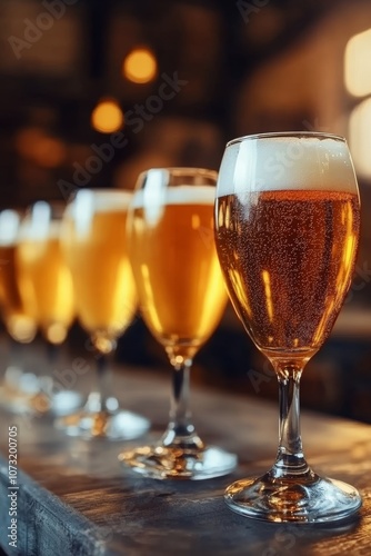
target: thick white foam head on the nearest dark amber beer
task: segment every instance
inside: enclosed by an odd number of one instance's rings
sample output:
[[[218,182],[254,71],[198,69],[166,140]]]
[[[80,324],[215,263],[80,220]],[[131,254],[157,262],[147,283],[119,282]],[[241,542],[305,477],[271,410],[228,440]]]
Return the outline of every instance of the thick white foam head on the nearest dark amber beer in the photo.
[[[288,189],[355,192],[354,176],[347,142],[335,137],[252,136],[225,149],[217,196]]]

